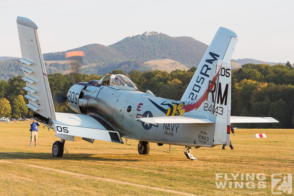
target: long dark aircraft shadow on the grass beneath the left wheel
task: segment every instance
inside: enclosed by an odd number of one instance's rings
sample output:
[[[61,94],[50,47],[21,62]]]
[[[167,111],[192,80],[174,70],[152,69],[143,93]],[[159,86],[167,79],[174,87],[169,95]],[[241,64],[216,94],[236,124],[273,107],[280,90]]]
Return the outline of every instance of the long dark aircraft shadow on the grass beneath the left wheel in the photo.
[[[109,155],[110,158],[92,157],[93,155]],[[133,155],[133,154],[121,154]],[[138,155],[139,156],[139,155]],[[113,157],[113,158],[112,158]],[[64,153],[62,157],[53,157],[52,153],[25,153],[25,152],[0,152],[0,159],[40,159],[40,160],[91,160],[91,161],[139,161],[139,159],[123,159],[118,154],[88,154],[88,153]]]

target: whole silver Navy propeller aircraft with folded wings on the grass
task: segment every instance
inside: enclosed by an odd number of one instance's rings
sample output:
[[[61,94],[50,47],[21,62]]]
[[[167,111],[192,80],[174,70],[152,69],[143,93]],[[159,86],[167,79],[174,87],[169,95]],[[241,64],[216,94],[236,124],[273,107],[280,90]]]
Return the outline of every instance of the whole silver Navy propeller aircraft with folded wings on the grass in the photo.
[[[74,136],[93,143],[104,140],[123,143],[121,137],[139,140],[139,154],[149,153],[149,143],[214,147],[230,143],[230,123],[278,122],[270,117],[230,116],[231,66],[237,35],[220,27],[180,101],[138,91],[126,76],[106,74],[100,81],[80,82],[69,89],[67,102],[77,114],[56,113],[37,34],[31,20],[18,17],[17,27],[26,81],[26,106],[32,117],[49,128],[61,141],[52,154],[61,157],[66,140]]]

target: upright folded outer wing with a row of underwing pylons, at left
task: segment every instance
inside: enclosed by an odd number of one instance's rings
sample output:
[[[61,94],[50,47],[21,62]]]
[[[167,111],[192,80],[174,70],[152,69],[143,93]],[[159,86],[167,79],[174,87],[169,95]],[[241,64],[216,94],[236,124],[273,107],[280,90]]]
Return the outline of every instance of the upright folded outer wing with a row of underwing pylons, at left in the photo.
[[[28,95],[25,97],[29,100],[29,104],[26,106],[45,118],[56,120],[37,33],[38,27],[33,21],[24,17],[17,17],[16,23],[22,55],[19,62],[24,64],[19,69],[24,71],[25,77],[21,79],[26,82],[24,89]]]

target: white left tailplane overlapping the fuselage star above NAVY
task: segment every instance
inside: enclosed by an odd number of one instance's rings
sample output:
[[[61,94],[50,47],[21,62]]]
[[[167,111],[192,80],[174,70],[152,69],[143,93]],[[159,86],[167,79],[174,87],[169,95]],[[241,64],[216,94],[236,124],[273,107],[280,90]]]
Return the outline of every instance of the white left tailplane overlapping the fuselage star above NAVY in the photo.
[[[161,117],[150,117],[150,118],[136,118],[135,120],[144,123],[214,123],[207,118],[196,117],[192,115],[183,116],[161,116]]]

